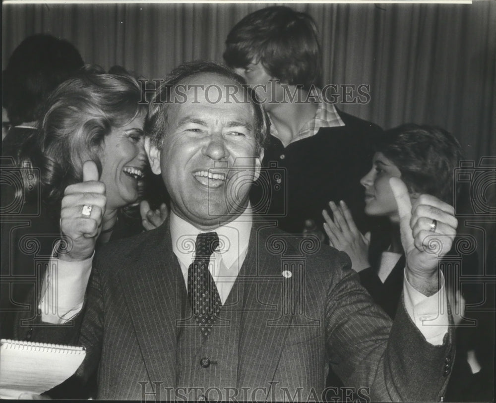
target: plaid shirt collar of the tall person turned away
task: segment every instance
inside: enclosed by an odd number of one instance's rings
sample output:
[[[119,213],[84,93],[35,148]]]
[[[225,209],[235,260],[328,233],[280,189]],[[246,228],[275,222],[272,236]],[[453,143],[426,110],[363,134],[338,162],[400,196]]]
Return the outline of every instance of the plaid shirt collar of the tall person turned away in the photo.
[[[321,90],[317,89],[312,94],[315,94],[318,98],[317,111],[315,112],[315,116],[310,119],[304,126],[301,128],[300,132],[293,137],[291,143],[294,143],[298,140],[303,140],[307,137],[314,136],[317,134],[320,127],[339,127],[344,126],[344,122],[339,116],[338,111],[334,104],[330,104],[325,102],[321,96]],[[269,115],[270,119],[270,115]],[[278,137],[276,126],[270,121],[270,134],[274,137]]]

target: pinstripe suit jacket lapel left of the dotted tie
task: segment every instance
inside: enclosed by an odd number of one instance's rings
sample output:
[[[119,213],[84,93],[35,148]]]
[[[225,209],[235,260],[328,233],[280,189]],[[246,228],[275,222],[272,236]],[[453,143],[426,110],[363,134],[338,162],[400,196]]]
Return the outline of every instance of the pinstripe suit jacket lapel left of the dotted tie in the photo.
[[[137,260],[129,262],[120,273],[150,381],[167,386],[176,385],[176,318],[181,314],[180,287],[184,288],[171,245],[167,221],[155,231]]]

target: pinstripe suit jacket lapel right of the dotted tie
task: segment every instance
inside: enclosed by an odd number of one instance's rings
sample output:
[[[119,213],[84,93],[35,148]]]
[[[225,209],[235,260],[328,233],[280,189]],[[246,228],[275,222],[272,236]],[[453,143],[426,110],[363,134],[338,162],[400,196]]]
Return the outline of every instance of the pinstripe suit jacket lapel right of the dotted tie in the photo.
[[[267,227],[271,225],[254,223],[247,258],[238,276],[240,287],[244,287],[238,386],[268,386],[292,321],[292,315],[283,308],[290,294],[288,279],[282,275],[281,254],[267,251],[268,239],[263,234]]]

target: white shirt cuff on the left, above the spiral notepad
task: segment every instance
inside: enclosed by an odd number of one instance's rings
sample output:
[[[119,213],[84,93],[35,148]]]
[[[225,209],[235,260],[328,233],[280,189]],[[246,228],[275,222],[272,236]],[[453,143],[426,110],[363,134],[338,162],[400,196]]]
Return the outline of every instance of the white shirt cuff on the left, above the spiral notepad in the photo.
[[[43,322],[63,324],[81,311],[94,255],[81,262],[50,259],[38,306]]]

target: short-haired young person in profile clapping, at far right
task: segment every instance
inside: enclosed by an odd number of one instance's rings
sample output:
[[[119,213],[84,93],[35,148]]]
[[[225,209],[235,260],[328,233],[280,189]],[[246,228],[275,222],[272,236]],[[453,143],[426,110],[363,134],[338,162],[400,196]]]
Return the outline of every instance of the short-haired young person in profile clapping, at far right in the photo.
[[[400,235],[400,216],[389,178],[401,178],[414,206],[432,208],[424,205],[422,194],[434,195],[451,206],[457,196],[453,173],[459,167],[462,152],[458,140],[445,130],[414,124],[385,131],[376,139],[374,149],[372,169],[361,179],[365,187],[365,213],[386,217],[389,226],[372,231],[372,235],[362,235],[342,201],[329,202],[334,219],[325,210],[322,214],[329,244],[350,256],[352,268],[359,272],[362,285],[394,318],[403,290],[406,257]],[[436,214],[441,212],[439,208],[434,208]],[[450,212],[454,210],[451,208]],[[442,236],[438,235],[442,224],[436,220],[426,224],[431,226],[431,233],[426,232],[426,235],[435,249],[438,237]],[[414,227],[414,232],[419,230],[420,224]],[[479,396],[484,393],[476,391],[473,385],[472,371],[477,372],[480,366],[474,359],[475,345],[468,344],[467,332],[474,329],[469,328],[470,321],[464,318],[466,300],[460,287],[461,275],[477,274],[478,261],[474,253],[466,254],[469,248],[460,247],[460,242],[466,242],[466,239],[463,236],[455,238],[453,248],[438,262],[446,281],[454,324],[464,325],[457,328],[457,355],[445,396],[446,401],[455,402],[473,401],[477,396],[475,393]]]

